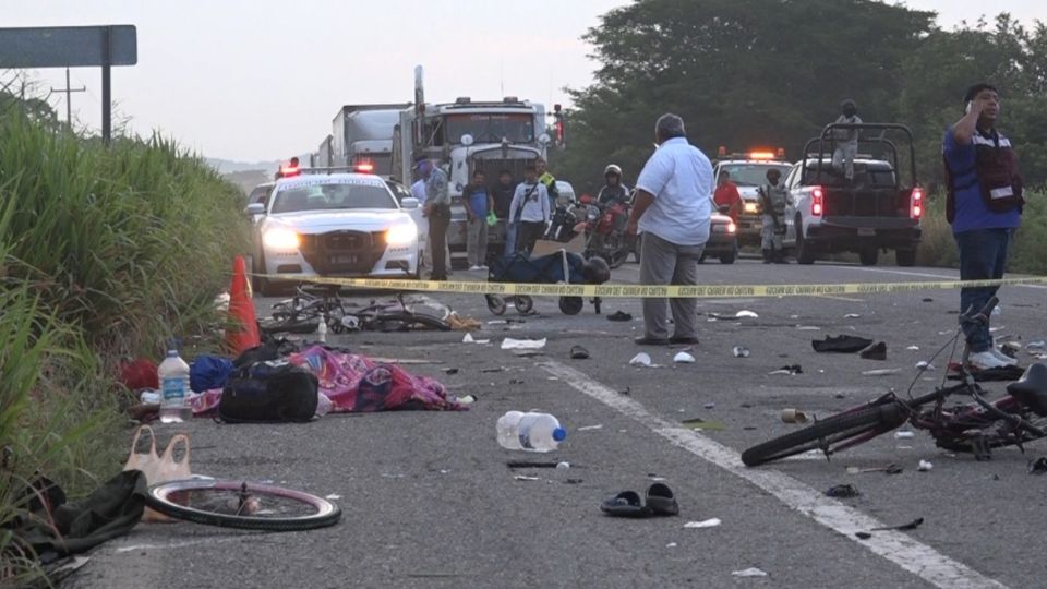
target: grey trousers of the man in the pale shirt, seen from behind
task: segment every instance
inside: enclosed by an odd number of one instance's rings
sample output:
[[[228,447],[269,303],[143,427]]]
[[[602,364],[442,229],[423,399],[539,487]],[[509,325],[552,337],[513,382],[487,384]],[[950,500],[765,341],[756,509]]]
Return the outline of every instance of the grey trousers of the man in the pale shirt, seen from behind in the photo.
[[[640,284],[698,284],[698,259],[705,245],[677,245],[653,233],[645,232],[640,244]],[[673,337],[696,337],[698,299],[670,299],[673,311]],[[650,338],[669,337],[665,299],[643,299],[643,329]]]

